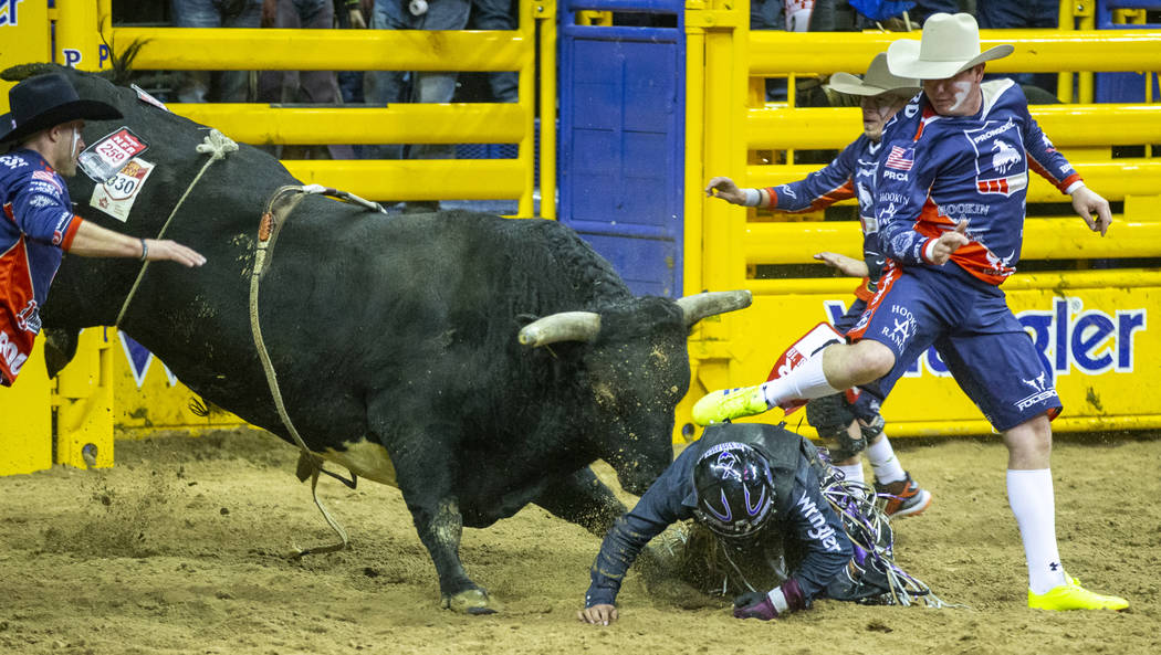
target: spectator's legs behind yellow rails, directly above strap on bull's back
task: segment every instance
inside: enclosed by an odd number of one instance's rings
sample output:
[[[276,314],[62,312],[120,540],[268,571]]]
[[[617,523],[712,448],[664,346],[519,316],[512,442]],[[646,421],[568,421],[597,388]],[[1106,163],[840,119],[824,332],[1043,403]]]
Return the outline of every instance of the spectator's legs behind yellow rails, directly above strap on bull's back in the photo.
[[[282,29],[332,29],[332,0],[264,0],[262,27]],[[334,71],[264,71],[258,78],[258,100],[275,103],[342,104]],[[277,157],[291,157],[276,148]],[[354,159],[348,145],[295,150],[295,159]],[[322,157],[318,157],[318,155]]]

